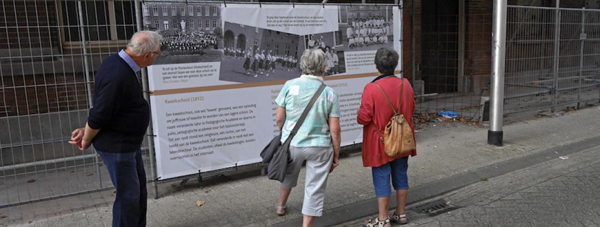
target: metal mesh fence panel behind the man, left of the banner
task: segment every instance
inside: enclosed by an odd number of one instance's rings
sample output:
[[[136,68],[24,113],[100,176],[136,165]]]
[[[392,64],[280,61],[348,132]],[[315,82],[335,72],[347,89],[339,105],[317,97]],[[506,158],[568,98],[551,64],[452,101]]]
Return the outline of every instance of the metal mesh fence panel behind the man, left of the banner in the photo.
[[[95,152],[67,141],[86,122],[101,60],[136,31],[134,1],[1,4],[0,207],[112,186]]]

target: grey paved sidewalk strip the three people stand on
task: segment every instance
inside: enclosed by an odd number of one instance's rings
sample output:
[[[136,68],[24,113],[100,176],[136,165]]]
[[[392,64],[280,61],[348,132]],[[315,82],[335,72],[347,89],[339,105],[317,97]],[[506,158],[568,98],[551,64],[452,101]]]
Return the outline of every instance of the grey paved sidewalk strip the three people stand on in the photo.
[[[420,186],[423,191],[410,193],[421,193],[424,198],[438,196],[448,190],[425,190],[426,186],[597,137],[599,114],[600,108],[590,107],[565,116],[511,123],[504,128],[503,147],[487,145],[487,128],[431,123],[417,132],[418,156],[409,159],[410,186],[415,190]],[[340,167],[329,178],[325,212],[370,203],[375,197],[371,182],[370,168],[362,167],[360,153],[341,159]],[[265,226],[297,223],[302,217],[304,169],[287,204],[289,213],[283,217],[275,216],[278,182],[256,172],[230,175],[211,183],[190,181],[185,187],[173,184],[176,183],[160,184],[160,198],[149,199],[148,226]],[[113,199],[113,191],[109,190],[3,208],[0,216],[6,217],[0,225],[110,226]],[[205,201],[201,207],[196,205],[199,200]],[[370,212],[366,208],[365,211]],[[316,223],[344,223],[361,217],[323,217]]]

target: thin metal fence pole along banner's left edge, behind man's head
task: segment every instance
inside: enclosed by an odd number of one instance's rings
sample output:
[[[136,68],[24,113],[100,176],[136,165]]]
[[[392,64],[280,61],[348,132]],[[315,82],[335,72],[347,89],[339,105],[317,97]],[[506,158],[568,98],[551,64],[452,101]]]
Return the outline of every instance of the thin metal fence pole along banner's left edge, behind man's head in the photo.
[[[142,9],[140,7],[140,0],[135,0],[135,5],[136,5],[136,24],[137,24],[137,31],[142,31]],[[146,68],[142,69],[142,88],[144,91],[144,99],[146,99],[146,102],[148,102],[148,104],[150,104],[150,95],[148,93],[148,71]],[[150,115],[152,116],[152,112],[150,112]],[[150,123],[148,124],[148,129],[146,129],[146,135],[148,135],[148,156],[150,157],[150,171],[151,171],[151,175],[152,175],[152,192],[154,192],[154,199],[158,199],[158,185],[156,183],[157,181],[157,177],[156,177],[156,167],[154,165],[154,132],[152,130],[152,117],[150,117]]]

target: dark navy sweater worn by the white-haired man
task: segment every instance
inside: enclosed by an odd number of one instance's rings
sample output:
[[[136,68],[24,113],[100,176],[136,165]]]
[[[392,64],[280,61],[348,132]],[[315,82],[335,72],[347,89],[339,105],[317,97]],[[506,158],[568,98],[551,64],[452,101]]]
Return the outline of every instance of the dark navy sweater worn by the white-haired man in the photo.
[[[148,128],[150,110],[136,73],[119,55],[104,59],[96,73],[94,107],[88,125],[100,129],[95,149],[109,153],[136,152]]]

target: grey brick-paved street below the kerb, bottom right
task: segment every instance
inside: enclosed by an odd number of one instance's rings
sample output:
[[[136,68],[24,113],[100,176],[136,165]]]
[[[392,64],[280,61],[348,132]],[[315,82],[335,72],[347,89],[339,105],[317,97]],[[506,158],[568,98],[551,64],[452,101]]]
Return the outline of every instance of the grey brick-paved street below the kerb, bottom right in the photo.
[[[419,201],[407,209],[406,226],[600,226],[598,138],[590,146]],[[437,216],[410,209],[437,199],[456,209]],[[361,226],[374,216],[338,226]]]

